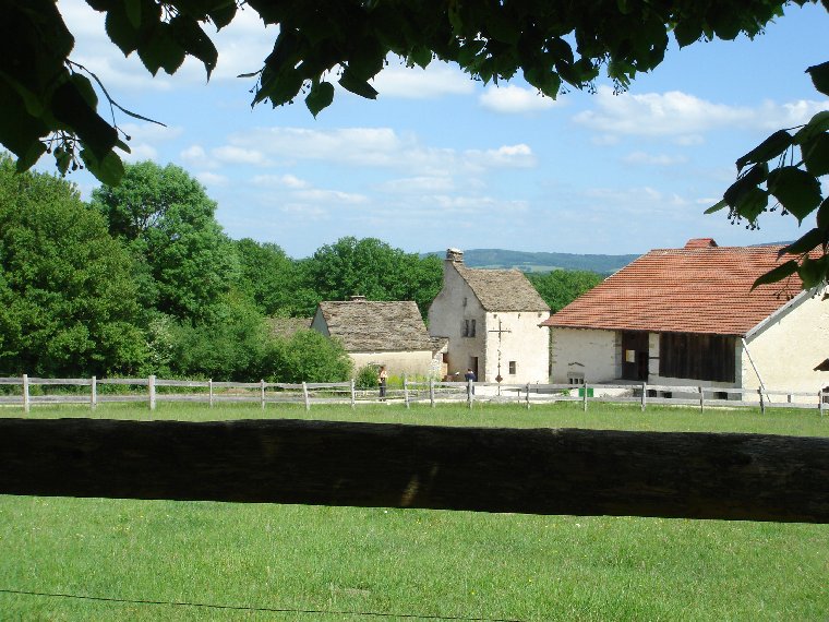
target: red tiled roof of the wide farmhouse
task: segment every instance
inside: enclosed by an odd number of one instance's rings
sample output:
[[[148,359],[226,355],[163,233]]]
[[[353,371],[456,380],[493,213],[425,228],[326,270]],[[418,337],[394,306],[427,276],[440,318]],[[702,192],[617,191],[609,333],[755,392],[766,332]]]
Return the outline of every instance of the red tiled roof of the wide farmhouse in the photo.
[[[796,275],[750,290],[758,276],[785,261],[778,261],[781,248],[717,247],[704,239],[652,250],[542,325],[745,335],[801,291]]]

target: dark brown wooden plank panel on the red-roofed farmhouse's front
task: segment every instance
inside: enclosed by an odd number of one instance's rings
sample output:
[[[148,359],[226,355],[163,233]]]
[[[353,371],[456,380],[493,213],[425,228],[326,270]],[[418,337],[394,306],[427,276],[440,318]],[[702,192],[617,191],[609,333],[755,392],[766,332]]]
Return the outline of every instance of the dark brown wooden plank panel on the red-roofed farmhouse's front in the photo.
[[[659,337],[659,375],[734,382],[734,337],[662,333]]]

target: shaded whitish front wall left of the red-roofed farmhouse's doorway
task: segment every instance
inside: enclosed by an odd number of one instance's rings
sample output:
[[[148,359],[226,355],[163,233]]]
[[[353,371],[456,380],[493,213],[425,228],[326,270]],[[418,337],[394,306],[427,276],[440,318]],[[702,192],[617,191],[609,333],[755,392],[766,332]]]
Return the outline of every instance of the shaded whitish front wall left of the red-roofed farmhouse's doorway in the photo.
[[[568,372],[580,372],[591,382],[610,382],[622,375],[615,331],[553,328],[552,376],[566,383]]]

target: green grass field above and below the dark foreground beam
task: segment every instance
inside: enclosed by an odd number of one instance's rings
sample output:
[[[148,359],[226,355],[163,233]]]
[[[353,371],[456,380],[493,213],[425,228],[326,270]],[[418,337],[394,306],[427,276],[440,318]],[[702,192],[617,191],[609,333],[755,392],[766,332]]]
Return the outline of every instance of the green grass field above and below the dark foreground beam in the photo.
[[[829,435],[829,418],[802,410],[161,404],[153,416]],[[829,527],[0,497],[0,619],[827,620]]]

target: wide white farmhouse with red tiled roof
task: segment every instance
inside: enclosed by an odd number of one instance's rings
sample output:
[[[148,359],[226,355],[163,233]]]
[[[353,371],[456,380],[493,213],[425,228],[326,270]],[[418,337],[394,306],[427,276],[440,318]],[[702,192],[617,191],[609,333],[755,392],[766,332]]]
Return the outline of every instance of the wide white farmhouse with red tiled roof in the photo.
[[[554,313],[552,382],[817,392],[829,303],[796,275],[752,290],[782,247],[657,249]]]

